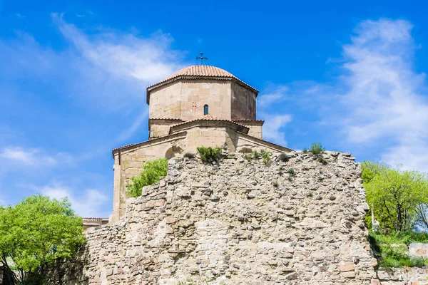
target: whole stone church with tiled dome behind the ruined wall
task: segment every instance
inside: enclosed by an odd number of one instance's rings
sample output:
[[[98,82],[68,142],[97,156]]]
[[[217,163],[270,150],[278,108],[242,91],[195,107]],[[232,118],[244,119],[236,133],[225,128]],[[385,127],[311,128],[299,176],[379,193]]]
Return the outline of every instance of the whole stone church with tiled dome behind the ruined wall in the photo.
[[[147,160],[195,153],[198,146],[290,151],[263,140],[257,96],[257,89],[215,66],[189,66],[148,86],[148,140],[113,150],[112,221],[125,214],[126,185]]]

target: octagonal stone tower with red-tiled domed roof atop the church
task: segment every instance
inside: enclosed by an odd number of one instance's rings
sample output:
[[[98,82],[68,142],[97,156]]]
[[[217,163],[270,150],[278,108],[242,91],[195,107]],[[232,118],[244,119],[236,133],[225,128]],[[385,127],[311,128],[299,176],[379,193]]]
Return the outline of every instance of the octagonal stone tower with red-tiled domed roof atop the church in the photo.
[[[257,95],[257,89],[221,68],[183,68],[147,88],[149,139],[168,135],[168,125],[204,115],[232,121],[255,120]]]

